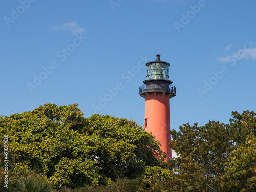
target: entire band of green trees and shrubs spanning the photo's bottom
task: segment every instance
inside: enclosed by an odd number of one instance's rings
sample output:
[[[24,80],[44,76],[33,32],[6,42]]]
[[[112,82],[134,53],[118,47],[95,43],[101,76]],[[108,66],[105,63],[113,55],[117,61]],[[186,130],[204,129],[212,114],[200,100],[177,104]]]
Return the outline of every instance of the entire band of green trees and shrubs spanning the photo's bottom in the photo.
[[[52,185],[65,192],[255,191],[255,116],[232,112],[229,124],[187,123],[172,130],[169,146],[179,157],[168,162],[135,121],[84,118],[77,104],[49,103],[1,116],[0,140],[8,135],[15,167],[9,168],[8,190],[51,191]]]

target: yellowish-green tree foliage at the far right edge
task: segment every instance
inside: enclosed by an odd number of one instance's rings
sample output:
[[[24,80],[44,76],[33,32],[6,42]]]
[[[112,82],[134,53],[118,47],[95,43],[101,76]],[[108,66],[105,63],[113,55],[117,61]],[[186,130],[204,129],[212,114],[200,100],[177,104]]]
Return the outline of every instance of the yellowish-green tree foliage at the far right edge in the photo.
[[[236,149],[228,157],[225,173],[220,176],[223,191],[255,191],[256,188],[256,113],[232,112],[231,135]]]

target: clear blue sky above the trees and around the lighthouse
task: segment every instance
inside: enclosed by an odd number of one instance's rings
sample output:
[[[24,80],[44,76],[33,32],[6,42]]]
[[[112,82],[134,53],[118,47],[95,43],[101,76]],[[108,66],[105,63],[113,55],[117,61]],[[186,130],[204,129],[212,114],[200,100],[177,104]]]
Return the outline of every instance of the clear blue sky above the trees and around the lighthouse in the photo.
[[[85,117],[142,124],[139,87],[159,48],[177,88],[172,129],[228,123],[231,111],[256,107],[255,7],[253,0],[3,0],[0,115],[78,103]]]

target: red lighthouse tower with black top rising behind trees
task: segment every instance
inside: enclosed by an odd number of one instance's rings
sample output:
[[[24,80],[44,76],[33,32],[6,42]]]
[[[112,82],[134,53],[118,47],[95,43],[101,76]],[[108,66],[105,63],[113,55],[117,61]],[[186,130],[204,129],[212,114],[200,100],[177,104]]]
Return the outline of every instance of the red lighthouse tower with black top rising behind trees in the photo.
[[[171,86],[173,81],[169,80],[168,62],[157,59],[146,63],[147,80],[140,87],[140,96],[146,99],[144,128],[147,132],[152,132],[156,140],[162,144],[162,151],[172,157],[170,143],[170,102],[169,99],[176,96],[175,86]]]

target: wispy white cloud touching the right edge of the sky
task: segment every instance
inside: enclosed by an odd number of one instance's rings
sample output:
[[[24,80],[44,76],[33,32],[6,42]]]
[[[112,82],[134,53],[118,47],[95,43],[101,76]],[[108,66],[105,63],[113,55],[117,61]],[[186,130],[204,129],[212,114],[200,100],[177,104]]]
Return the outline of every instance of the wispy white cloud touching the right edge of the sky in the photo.
[[[221,62],[228,62],[231,58],[236,58],[236,59],[239,58],[239,60],[244,58],[246,59],[252,58],[253,60],[256,60],[256,48],[252,48],[248,50],[240,49],[226,57],[219,57],[217,58],[217,60]]]

